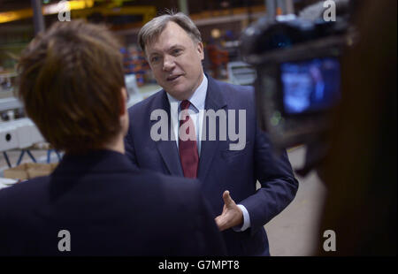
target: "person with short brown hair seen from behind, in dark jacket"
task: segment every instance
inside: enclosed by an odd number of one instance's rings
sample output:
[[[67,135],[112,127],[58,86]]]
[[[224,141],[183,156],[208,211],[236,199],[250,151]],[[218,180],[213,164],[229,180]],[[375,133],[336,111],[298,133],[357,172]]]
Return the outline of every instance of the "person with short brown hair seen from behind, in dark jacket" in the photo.
[[[104,27],[56,23],[31,42],[19,96],[65,156],[50,176],[0,191],[0,255],[224,255],[195,179],[138,171],[119,45]]]

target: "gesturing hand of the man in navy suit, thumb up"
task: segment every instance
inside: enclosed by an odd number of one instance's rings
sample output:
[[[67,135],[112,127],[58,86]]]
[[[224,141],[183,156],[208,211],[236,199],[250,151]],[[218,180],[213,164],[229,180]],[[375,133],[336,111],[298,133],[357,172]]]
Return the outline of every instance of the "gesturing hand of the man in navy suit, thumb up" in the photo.
[[[224,208],[221,215],[215,218],[216,224],[220,232],[231,228],[235,225],[241,225],[243,222],[243,213],[241,209],[233,202],[233,199],[229,195],[229,191],[225,191],[223,194]]]

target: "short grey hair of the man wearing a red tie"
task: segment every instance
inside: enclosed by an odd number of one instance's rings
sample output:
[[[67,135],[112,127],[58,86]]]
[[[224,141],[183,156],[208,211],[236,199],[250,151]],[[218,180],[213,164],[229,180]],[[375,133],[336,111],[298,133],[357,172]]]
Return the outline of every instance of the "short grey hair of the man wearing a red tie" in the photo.
[[[145,45],[154,42],[162,34],[169,22],[174,22],[182,27],[194,42],[202,42],[202,35],[195,23],[184,13],[178,12],[174,14],[171,11],[169,14],[151,19],[141,28],[138,33],[138,43],[143,52],[145,52]]]

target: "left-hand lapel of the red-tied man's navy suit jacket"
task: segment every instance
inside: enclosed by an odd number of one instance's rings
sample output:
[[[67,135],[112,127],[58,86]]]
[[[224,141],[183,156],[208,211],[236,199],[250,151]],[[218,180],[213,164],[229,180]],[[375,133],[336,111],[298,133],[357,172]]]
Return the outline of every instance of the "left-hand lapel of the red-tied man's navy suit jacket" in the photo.
[[[176,145],[176,141],[173,141],[172,136],[172,123],[171,123],[171,114],[170,114],[170,103],[167,99],[167,95],[165,90],[161,91],[162,95],[160,96],[160,100],[157,103],[157,107],[155,109],[165,110],[167,112],[168,118],[168,140],[170,141],[155,141],[157,144],[157,150],[159,151],[160,155],[162,156],[163,161],[165,162],[165,166],[167,170],[172,175],[176,176],[184,176],[180,164],[180,156],[178,153],[178,148]],[[151,121],[152,125],[157,121]]]

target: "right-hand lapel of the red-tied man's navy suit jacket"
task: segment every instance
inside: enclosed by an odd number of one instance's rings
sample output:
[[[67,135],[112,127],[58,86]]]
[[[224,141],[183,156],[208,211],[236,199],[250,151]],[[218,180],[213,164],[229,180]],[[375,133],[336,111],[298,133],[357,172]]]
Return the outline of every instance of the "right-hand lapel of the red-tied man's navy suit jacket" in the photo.
[[[221,92],[221,89],[218,87],[218,83],[216,82],[216,80],[213,80],[208,75],[206,76],[209,80],[209,84],[207,88],[204,108],[205,110],[214,110],[217,112],[217,110],[226,107],[226,101]],[[203,121],[203,126],[204,124],[206,125],[206,133],[209,133],[209,123],[204,123]],[[219,140],[209,141],[208,137],[209,136],[206,136],[205,141],[203,141],[204,138],[202,138],[201,156],[199,158],[198,178],[202,181],[206,179],[206,175],[210,169],[213,158],[216,153],[218,153]]]

